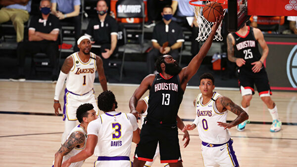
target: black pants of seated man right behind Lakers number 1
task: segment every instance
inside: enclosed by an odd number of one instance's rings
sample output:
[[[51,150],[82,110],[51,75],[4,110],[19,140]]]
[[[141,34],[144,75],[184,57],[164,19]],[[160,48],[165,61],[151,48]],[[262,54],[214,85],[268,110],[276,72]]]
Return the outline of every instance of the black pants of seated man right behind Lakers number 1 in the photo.
[[[105,76],[107,76],[108,71],[109,71],[109,61],[118,52],[118,48],[116,47],[114,49],[113,53],[110,55],[109,58],[104,59],[102,57],[102,54],[101,53],[106,52],[105,49],[110,49],[110,43],[99,44],[99,45],[101,46],[100,48],[98,48],[98,47],[92,47],[91,52],[93,52],[93,53],[97,54],[98,56],[100,56],[100,58],[102,59],[102,62],[103,62],[103,69],[104,69]]]

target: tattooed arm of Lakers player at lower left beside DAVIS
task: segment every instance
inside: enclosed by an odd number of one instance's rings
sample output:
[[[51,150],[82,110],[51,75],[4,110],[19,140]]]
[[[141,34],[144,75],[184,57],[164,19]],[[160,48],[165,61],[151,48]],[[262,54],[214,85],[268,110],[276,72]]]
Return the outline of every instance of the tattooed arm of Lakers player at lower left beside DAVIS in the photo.
[[[68,140],[60,147],[55,154],[54,167],[61,167],[63,156],[67,155],[74,147],[84,144],[85,134],[80,131],[74,131],[69,136]]]

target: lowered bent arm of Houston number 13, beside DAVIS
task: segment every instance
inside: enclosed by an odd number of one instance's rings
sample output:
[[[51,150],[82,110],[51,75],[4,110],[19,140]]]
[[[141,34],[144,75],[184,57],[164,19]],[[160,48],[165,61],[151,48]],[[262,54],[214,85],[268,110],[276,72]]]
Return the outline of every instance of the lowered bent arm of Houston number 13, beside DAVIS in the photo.
[[[134,91],[132,97],[130,98],[129,101],[129,107],[130,107],[130,113],[135,115],[138,119],[138,112],[136,110],[137,102],[141,98],[142,95],[145,94],[145,92],[150,89],[151,83],[153,82],[155,78],[154,74],[148,75],[146,78],[143,79],[143,81],[140,83],[139,87]]]

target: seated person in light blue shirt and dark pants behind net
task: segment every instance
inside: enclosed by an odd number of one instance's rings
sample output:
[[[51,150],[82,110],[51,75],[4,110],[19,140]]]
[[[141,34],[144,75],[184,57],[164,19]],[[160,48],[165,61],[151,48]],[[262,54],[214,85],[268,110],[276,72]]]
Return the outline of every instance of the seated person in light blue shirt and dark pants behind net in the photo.
[[[202,1],[198,1],[196,4],[202,4]],[[173,15],[172,20],[192,31],[191,53],[192,55],[196,55],[199,52],[199,42],[196,40],[199,27],[195,13],[192,8],[189,7],[189,0],[172,0],[171,7]]]

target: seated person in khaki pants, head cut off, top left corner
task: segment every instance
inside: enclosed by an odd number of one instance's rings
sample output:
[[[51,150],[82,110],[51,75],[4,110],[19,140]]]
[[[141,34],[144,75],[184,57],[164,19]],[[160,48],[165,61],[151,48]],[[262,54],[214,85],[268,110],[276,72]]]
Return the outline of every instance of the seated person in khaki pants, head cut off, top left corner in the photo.
[[[0,24],[11,20],[16,32],[16,42],[24,39],[24,23],[29,19],[31,0],[0,0]]]

